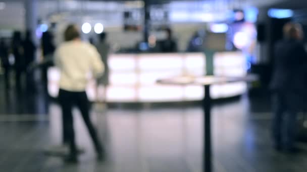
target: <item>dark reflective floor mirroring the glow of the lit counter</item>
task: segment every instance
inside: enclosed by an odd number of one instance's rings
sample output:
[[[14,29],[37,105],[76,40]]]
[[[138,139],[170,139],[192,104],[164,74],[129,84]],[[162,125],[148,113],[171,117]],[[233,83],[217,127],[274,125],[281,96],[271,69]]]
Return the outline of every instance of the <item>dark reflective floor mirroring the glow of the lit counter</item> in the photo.
[[[5,94],[2,89],[1,94],[1,171],[201,171],[203,121],[197,105],[134,110],[94,107],[92,120],[108,149],[105,162],[95,161],[76,109],[77,143],[86,152],[78,164],[69,165],[60,157],[43,153],[45,148],[61,143],[60,107],[52,101],[48,104],[42,93],[17,94],[11,89]],[[215,104],[214,171],[305,171],[307,152],[289,155],[271,147],[270,116],[270,101],[266,97],[242,96]]]

